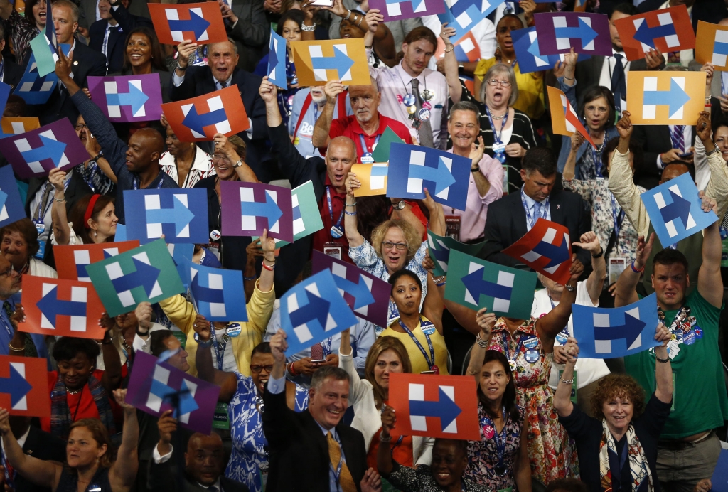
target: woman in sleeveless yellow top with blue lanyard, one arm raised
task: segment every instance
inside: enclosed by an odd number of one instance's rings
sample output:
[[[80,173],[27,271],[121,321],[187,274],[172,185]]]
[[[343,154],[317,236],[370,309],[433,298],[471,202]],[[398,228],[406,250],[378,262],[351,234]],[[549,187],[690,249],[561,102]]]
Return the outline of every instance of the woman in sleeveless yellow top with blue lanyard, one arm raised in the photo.
[[[432,275],[427,279],[432,282]],[[389,277],[389,283],[392,284],[392,302],[400,317],[381,336],[393,336],[402,342],[412,364],[412,373],[449,374],[448,349],[443,337],[443,301],[437,295],[434,283],[430,285],[432,294],[425,297],[422,313],[419,312],[422,282],[416,274],[409,270],[395,271]]]

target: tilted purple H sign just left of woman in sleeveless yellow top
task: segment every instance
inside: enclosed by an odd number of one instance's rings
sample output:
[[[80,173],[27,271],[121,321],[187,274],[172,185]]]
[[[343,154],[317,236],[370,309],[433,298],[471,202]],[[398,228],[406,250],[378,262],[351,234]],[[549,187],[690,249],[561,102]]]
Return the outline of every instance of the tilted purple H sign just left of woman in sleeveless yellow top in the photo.
[[[336,287],[354,314],[378,326],[387,326],[387,309],[392,285],[368,274],[356,265],[314,250],[312,273],[331,270]]]

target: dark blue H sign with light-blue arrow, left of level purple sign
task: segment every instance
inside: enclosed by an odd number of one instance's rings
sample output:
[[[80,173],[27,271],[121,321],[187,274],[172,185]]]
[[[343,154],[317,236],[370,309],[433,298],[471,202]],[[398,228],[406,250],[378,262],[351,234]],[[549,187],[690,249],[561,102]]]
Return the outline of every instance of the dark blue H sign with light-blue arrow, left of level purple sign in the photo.
[[[141,244],[207,242],[207,194],[203,189],[124,190],[127,237]]]

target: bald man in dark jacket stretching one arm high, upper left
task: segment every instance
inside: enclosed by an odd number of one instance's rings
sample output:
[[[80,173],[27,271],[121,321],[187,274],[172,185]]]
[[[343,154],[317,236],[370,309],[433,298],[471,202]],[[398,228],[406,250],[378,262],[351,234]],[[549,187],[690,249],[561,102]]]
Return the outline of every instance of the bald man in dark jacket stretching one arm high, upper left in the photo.
[[[89,131],[95,135],[103,156],[116,174],[116,217],[119,223],[125,223],[124,190],[179,188],[175,180],[159,168],[159,156],[165,150],[165,138],[153,128],[142,128],[132,134],[128,145],[124,143],[100,108],[71,79],[72,56],[73,53],[70,58],[60,53],[60,60],[55,64],[55,74],[66,85],[71,100],[84,117]]]

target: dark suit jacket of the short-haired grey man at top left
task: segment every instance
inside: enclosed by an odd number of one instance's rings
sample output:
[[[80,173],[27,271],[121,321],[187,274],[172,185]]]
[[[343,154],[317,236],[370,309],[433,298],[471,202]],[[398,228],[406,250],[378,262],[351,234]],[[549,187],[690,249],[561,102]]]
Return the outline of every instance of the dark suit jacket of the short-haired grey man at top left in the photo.
[[[25,66],[28,65],[30,57],[31,54],[28,51]],[[79,84],[79,87],[88,87],[86,82],[88,76],[106,75],[106,57],[82,42],[76,41],[71,72],[74,74],[74,82]],[[76,124],[76,119],[79,117],[79,110],[76,109],[71,96],[68,95],[66,87],[63,87],[60,82],[56,85],[47,103],[28,106],[28,112],[30,113],[29,116],[37,116],[41,125],[56,122],[66,117],[71,120],[71,124]]]

